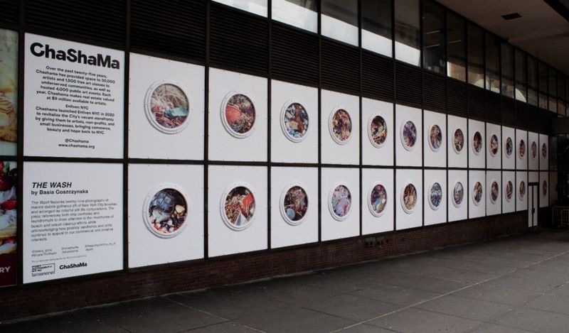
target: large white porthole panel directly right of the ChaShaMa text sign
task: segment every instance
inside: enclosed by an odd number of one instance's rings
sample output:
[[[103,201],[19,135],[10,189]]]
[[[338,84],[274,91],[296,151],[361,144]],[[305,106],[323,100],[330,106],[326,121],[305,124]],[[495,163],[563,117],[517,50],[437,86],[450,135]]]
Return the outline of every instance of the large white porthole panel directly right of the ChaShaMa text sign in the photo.
[[[203,160],[204,75],[203,66],[131,53],[130,158]]]

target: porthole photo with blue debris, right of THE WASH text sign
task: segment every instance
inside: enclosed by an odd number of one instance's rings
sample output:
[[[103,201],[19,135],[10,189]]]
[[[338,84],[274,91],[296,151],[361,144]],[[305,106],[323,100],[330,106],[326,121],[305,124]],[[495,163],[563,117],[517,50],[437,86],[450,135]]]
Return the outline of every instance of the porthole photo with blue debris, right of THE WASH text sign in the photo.
[[[152,190],[144,202],[144,222],[155,236],[171,238],[186,228],[188,201],[176,185]]]

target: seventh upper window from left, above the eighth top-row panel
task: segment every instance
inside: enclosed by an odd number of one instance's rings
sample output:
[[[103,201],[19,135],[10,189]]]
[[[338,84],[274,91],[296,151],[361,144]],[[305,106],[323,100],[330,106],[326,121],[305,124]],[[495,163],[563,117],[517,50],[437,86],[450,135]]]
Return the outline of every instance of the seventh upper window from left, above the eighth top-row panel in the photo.
[[[447,11],[447,75],[467,80],[464,18]]]

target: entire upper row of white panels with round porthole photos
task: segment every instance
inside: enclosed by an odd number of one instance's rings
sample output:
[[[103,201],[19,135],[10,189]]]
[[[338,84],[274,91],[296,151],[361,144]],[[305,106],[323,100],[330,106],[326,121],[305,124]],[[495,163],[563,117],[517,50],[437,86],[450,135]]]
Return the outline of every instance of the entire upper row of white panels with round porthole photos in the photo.
[[[270,144],[273,162],[317,163],[320,127],[322,163],[358,165],[361,145],[364,165],[549,168],[546,135],[326,90],[319,106],[318,89],[275,80],[269,96],[266,78],[226,70],[210,70],[204,112],[204,76],[131,55],[129,157],[202,160],[207,116],[210,160],[267,161]]]

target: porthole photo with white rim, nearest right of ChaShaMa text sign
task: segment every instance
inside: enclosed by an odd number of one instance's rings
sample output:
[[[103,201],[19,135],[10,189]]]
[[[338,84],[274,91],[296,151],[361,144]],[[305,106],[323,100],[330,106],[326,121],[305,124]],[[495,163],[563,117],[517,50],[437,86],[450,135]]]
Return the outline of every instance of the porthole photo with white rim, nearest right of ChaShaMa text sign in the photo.
[[[155,82],[148,89],[144,107],[150,124],[162,133],[178,133],[188,125],[190,103],[179,84]]]

